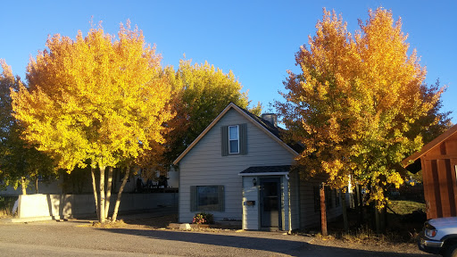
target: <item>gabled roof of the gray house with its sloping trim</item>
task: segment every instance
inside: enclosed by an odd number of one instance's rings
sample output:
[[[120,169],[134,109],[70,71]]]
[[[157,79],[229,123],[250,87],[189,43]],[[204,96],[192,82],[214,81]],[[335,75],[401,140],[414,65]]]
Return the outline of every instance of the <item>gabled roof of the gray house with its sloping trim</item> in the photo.
[[[219,113],[218,117],[216,117],[216,119],[212,120],[211,124],[208,125],[208,127],[206,127],[206,129],[204,129],[204,131],[200,135],[198,135],[198,137],[195,138],[194,142],[192,142],[192,144],[190,144],[187,147],[187,149],[178,156],[178,158],[173,162],[173,164],[177,165],[178,162],[181,161],[181,159],[184,158],[184,156],[186,156],[186,154],[190,150],[192,150],[192,148],[194,148],[194,146],[206,135],[206,133],[208,133],[208,131],[210,131],[210,129],[212,129],[212,127],[214,127],[218,123],[218,121],[222,117],[224,117],[224,115],[229,110],[232,110],[232,109],[237,111],[242,116],[244,116],[247,120],[251,121],[254,126],[261,129],[263,132],[265,132],[265,134],[270,136],[273,140],[277,141],[278,144],[282,145],[284,148],[286,148],[286,150],[288,152],[290,152],[294,155],[298,155],[298,153],[291,146],[287,145],[284,141],[281,140],[280,129],[274,127],[272,124],[270,124],[269,121],[263,120],[262,118],[257,117],[256,115],[254,115],[251,112],[247,112],[245,109],[237,106],[237,104],[230,103],[227,105],[227,107],[225,107],[225,109],[222,112]]]

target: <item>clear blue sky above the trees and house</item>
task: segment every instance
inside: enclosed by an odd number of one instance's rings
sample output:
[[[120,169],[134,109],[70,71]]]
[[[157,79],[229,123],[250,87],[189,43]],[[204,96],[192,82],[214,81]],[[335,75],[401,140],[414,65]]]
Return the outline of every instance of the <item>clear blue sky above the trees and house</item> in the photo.
[[[348,30],[359,29],[368,10],[383,6],[402,17],[407,42],[427,66],[426,82],[446,85],[444,111],[457,117],[457,0],[451,1],[4,1],[0,15],[0,58],[25,79],[29,56],[43,50],[48,35],[87,34],[91,17],[116,34],[129,19],[162,54],[162,65],[178,66],[186,54],[232,70],[254,103],[282,100],[287,70],[297,70],[295,53],[315,34],[322,8],[343,15]],[[457,123],[457,118],[453,118]]]

